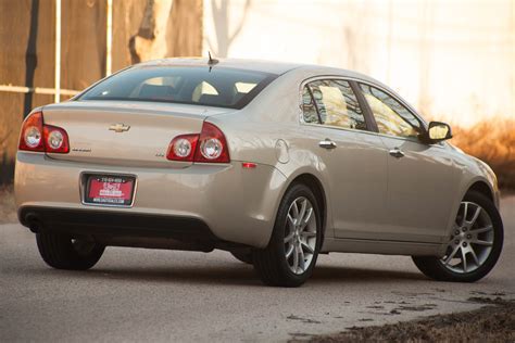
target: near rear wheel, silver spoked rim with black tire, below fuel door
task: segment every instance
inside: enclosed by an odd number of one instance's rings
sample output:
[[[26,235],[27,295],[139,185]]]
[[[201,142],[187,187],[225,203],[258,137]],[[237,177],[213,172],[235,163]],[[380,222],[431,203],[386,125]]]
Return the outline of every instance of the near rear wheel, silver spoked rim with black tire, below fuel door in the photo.
[[[253,250],[253,265],[268,285],[299,287],[312,275],[322,241],[321,211],[313,192],[293,185],[277,213],[268,246]]]

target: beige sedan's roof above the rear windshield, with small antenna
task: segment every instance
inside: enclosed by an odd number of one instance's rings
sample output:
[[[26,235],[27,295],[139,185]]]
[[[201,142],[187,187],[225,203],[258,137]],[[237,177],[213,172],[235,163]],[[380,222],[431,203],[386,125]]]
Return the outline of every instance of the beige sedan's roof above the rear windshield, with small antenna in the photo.
[[[289,63],[278,61],[266,61],[266,60],[248,60],[248,59],[216,59],[217,63],[212,64],[213,67],[231,67],[247,71],[255,71],[262,73],[271,73],[276,75],[282,75],[287,72],[298,69],[310,71],[313,74],[319,75],[341,75],[347,77],[354,77],[377,82],[377,80],[348,69],[328,67],[315,64],[303,64],[303,63]],[[146,67],[146,66],[209,66],[208,58],[172,58],[153,60],[143,63],[139,63],[134,67]]]

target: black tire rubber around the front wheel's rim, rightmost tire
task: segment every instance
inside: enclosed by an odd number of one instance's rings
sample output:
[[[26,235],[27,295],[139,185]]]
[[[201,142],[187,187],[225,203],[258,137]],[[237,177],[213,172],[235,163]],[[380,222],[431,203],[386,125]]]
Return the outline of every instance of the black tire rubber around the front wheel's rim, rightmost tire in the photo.
[[[487,212],[487,214],[490,216],[490,219],[492,220],[493,243],[490,255],[479,268],[470,272],[455,272],[449,270],[443,266],[439,257],[413,256],[413,262],[417,268],[431,279],[451,282],[474,282],[480,280],[493,269],[499,256],[501,255],[504,230],[501,215],[499,214],[499,211],[497,209],[493,202],[483,194],[474,191],[468,192],[465,195],[464,201],[477,203]]]

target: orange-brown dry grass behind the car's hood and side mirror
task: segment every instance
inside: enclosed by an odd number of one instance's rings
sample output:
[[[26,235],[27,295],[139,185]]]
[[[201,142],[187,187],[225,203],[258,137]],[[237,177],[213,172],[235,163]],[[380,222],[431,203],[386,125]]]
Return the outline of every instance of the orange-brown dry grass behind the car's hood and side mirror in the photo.
[[[480,122],[469,129],[453,127],[451,142],[492,167],[499,186],[515,189],[515,119]]]

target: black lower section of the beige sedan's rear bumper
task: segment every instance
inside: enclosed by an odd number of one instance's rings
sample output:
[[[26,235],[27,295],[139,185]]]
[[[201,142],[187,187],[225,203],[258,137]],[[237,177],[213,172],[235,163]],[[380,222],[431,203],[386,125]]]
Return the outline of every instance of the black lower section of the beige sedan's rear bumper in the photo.
[[[105,245],[175,246],[199,251],[237,246],[219,240],[198,218],[38,206],[20,208],[18,217],[22,225],[34,232],[87,236]],[[173,245],[166,245],[172,242]]]

